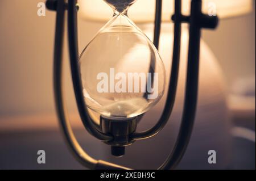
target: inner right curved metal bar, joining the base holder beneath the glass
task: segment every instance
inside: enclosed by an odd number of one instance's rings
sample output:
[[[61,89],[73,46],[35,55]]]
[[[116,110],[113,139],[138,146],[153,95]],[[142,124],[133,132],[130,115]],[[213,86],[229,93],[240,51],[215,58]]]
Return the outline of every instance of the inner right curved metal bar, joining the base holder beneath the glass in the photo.
[[[150,138],[155,136],[160,132],[166,125],[168,119],[170,118],[171,112],[174,107],[176,90],[177,90],[177,78],[179,75],[179,64],[180,64],[180,37],[181,37],[181,0],[175,0],[175,28],[174,28],[174,51],[172,56],[172,68],[171,77],[168,87],[168,96],[166,99],[166,104],[164,106],[164,111],[160,117],[158,123],[151,129],[144,132],[135,132],[131,135],[134,140],[143,140],[145,138]]]

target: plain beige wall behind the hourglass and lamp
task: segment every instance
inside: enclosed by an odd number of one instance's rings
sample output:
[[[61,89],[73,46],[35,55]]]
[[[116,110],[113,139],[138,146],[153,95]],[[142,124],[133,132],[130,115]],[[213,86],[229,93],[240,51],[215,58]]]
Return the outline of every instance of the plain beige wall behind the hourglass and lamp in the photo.
[[[37,16],[38,2],[42,0],[0,1],[0,116],[54,110],[55,13],[47,11],[46,17]],[[80,20],[80,48],[102,26]],[[220,60],[230,85],[235,78],[255,76],[255,3],[252,14],[221,20],[217,31],[203,32],[203,39]],[[67,57],[66,51],[65,61]],[[71,81],[68,74],[66,77],[69,107],[75,110]]]

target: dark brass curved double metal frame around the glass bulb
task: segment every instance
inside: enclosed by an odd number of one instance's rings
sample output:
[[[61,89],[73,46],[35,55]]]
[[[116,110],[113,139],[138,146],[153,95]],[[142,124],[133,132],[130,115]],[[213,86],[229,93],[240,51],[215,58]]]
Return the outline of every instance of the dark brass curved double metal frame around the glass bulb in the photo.
[[[54,90],[57,115],[59,117],[60,126],[62,128],[65,140],[69,149],[71,149],[75,158],[89,169],[129,169],[127,167],[114,165],[113,163],[96,160],[90,157],[81,148],[79,142],[73,134],[69,123],[67,110],[65,110],[65,102],[63,95],[62,82],[62,53],[63,53],[63,38],[65,11],[68,11],[68,39],[69,39],[69,56],[71,63],[71,72],[73,80],[73,88],[75,90],[76,102],[79,108],[80,117],[86,130],[99,140],[108,142],[113,140],[113,136],[102,133],[89,116],[84,98],[82,95],[82,86],[78,65],[78,44],[77,44],[77,0],[48,0],[47,7],[50,10],[55,10],[56,15],[56,35],[55,35],[55,54],[54,54]],[[156,0],[156,16],[155,16],[155,33],[154,43],[156,47],[159,44],[160,37],[160,19],[162,10],[162,0]],[[168,90],[166,105],[160,120],[154,127],[144,132],[134,132],[131,134],[131,139],[142,140],[157,134],[166,125],[170,118],[172,108],[174,107],[177,78],[179,75],[179,60],[180,60],[180,37],[181,23],[189,23],[189,53],[188,53],[188,68],[187,68],[187,83],[185,89],[184,110],[181,120],[179,135],[177,137],[175,147],[166,161],[158,169],[175,169],[177,164],[183,157],[191,137],[193,123],[195,120],[197,89],[199,79],[199,53],[200,53],[200,32],[201,28],[216,28],[218,24],[217,16],[204,15],[201,12],[201,0],[192,0],[191,15],[184,16],[181,14],[181,0],[175,0],[175,14],[172,16],[174,20],[174,52],[172,57],[171,78]]]

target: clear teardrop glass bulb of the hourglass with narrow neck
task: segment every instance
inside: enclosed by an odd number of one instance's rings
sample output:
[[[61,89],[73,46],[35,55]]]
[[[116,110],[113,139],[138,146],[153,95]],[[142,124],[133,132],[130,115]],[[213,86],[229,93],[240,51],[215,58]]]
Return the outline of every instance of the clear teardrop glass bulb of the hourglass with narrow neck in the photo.
[[[165,70],[158,50],[128,18],[135,0],[105,0],[114,16],[79,59],[85,103],[108,117],[135,117],[162,98]]]

